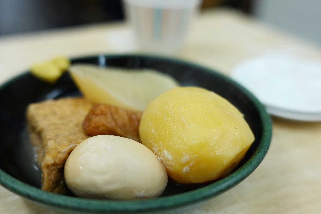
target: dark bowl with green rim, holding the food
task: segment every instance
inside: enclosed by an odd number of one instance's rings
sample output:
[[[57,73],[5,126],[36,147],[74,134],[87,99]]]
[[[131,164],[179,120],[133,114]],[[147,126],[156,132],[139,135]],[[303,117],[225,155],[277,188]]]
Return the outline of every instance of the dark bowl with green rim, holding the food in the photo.
[[[251,127],[255,141],[239,166],[227,177],[204,185],[177,185],[171,181],[155,199],[103,201],[49,193],[40,189],[40,171],[33,164],[25,110],[29,103],[63,96],[77,96],[68,73],[55,85],[24,73],[0,87],[0,184],[22,197],[62,213],[177,213],[229,190],[261,163],[271,141],[271,120],[263,105],[246,89],[211,69],[189,62],[146,55],[97,55],[72,63],[124,68],[152,68],[173,76],[183,86],[200,86],[235,105]],[[215,210],[214,210],[215,211]]]

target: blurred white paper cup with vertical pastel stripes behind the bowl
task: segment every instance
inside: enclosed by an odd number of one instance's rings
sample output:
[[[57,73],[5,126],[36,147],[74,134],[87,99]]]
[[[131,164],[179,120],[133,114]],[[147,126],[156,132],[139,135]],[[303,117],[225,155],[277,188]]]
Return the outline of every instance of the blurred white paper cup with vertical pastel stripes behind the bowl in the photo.
[[[175,54],[201,0],[124,0],[127,19],[142,51]]]

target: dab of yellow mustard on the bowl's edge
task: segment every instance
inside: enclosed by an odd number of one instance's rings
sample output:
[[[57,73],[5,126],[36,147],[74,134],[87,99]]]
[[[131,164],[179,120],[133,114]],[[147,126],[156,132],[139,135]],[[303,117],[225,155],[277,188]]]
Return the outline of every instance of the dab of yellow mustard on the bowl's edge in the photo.
[[[65,56],[57,56],[49,61],[35,63],[30,72],[48,83],[55,83],[70,66],[70,60]]]

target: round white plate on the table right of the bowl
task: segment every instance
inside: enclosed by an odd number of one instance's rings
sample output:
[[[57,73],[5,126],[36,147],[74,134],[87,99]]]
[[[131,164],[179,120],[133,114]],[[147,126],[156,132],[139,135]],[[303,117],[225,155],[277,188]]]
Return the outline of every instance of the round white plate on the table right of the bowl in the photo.
[[[231,78],[251,91],[268,113],[321,121],[321,62],[269,53],[240,62]]]

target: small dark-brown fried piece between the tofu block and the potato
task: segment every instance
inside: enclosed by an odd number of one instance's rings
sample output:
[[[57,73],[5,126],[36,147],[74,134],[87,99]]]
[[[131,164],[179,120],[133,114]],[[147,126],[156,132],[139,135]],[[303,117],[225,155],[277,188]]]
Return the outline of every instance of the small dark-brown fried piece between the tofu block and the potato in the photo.
[[[89,136],[116,135],[141,142],[139,123],[142,111],[130,111],[108,104],[95,104],[83,121]]]

